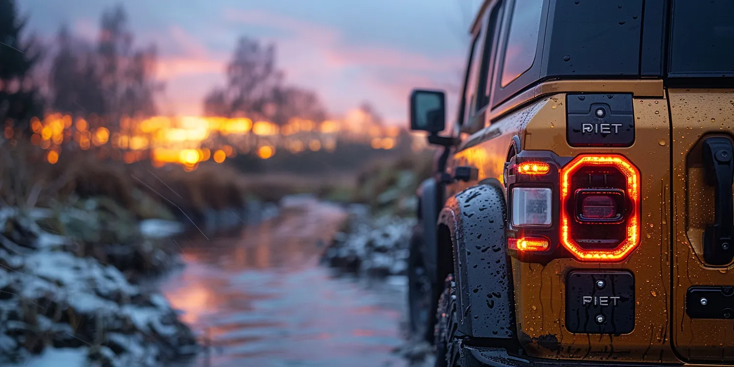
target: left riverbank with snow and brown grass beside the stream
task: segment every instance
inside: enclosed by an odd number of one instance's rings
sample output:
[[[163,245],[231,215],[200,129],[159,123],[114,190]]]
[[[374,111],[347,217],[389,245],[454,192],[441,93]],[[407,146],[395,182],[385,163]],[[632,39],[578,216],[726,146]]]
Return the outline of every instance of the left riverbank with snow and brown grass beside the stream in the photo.
[[[197,353],[165,297],[137,284],[175,266],[150,233],[178,224],[138,222],[103,203],[0,209],[0,363],[160,366]]]

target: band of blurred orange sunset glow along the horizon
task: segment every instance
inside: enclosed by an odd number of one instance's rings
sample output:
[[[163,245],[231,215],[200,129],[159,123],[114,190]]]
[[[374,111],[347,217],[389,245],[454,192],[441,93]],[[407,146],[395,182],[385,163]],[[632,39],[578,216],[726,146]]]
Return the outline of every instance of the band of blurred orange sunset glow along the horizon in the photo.
[[[288,123],[278,125],[241,116],[123,116],[115,123],[93,114],[81,117],[53,112],[43,117],[32,117],[30,129],[29,139],[33,145],[43,150],[56,150],[57,155],[62,146],[64,150],[70,145],[71,150],[95,151],[109,146],[123,150],[113,157],[128,163],[150,159],[156,167],[180,164],[187,170],[196,169],[202,161],[213,159],[221,163],[237,154],[252,153],[261,159],[269,159],[277,149],[290,153],[309,150],[333,152],[343,141],[365,143],[374,149],[392,149],[398,145],[397,137],[403,131],[399,126],[383,126],[364,113],[340,120],[292,118]],[[12,134],[12,126],[5,128],[6,139],[11,139]],[[413,137],[414,142],[423,140],[422,137]],[[103,149],[99,154],[109,156],[110,151]]]

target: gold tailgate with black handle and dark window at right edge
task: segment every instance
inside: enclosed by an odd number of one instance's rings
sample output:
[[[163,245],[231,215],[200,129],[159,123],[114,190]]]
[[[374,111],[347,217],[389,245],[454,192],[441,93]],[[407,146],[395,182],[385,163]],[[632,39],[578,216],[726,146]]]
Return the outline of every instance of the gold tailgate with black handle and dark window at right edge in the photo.
[[[669,38],[672,346],[734,364],[734,4],[676,1]]]

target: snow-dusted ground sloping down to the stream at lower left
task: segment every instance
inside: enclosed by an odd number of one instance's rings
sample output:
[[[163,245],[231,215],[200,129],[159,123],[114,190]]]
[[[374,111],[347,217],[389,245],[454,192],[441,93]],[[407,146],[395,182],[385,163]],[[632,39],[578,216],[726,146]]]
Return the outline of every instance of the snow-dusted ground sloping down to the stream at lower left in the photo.
[[[160,366],[197,352],[161,294],[76,256],[79,239],[34,222],[46,214],[0,209],[0,365]]]

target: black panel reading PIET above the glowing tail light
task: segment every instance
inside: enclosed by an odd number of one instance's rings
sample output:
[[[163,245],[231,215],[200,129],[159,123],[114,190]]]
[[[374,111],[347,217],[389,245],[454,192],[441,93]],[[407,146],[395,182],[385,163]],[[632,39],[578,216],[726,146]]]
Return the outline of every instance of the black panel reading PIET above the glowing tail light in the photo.
[[[566,95],[566,138],[572,147],[628,147],[635,142],[629,94]]]

